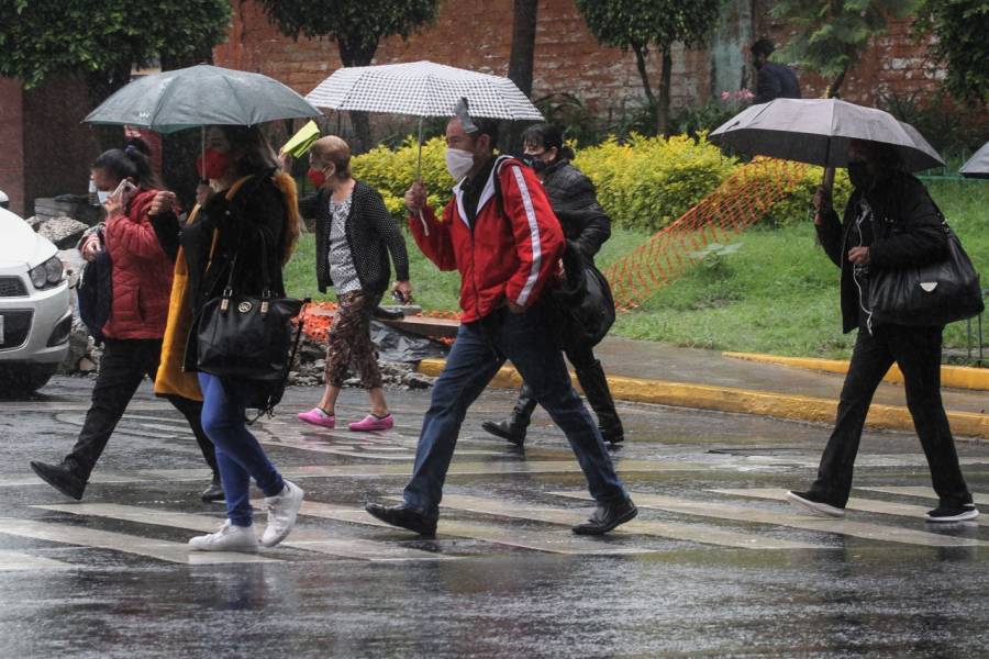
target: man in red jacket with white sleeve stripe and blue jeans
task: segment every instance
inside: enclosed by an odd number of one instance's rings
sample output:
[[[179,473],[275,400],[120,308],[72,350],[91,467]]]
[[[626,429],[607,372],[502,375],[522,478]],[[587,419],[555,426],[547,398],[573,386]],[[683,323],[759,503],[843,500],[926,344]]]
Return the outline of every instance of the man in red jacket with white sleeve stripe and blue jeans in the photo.
[[[433,386],[404,501],[397,506],[369,503],[367,512],[435,535],[443,481],[467,409],[511,359],[566,434],[598,503],[591,518],[574,532],[600,535],[632,520],[637,510],[570,384],[540,303],[564,250],[559,221],[531,169],[511,157],[494,158],[496,134],[496,122],[471,120],[464,111],[447,124],[446,163],[458,183],[442,221],[426,205],[421,182],[405,193],[409,226],[420,249],[441,270],[460,272],[463,314],[446,368]]]

